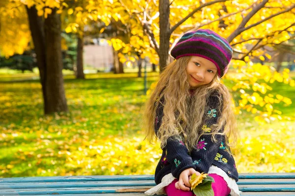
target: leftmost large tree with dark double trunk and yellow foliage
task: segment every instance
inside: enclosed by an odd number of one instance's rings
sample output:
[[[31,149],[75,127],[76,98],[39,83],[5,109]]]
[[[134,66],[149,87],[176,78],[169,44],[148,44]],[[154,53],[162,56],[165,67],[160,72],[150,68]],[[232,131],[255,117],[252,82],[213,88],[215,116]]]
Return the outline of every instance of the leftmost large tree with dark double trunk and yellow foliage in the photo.
[[[57,13],[59,3],[49,5],[49,2],[40,1],[35,5],[35,1],[29,1],[26,4],[23,2],[25,1],[9,1],[1,6],[3,11],[1,14],[5,16],[5,21],[10,20],[11,29],[15,29],[13,37],[3,36],[5,40],[3,45],[1,44],[1,52],[6,56],[23,53],[23,50],[28,47],[31,34],[40,73],[44,113],[67,111],[61,72],[61,22]],[[52,7],[49,8],[49,6]],[[19,26],[16,26],[16,22],[21,23],[23,34],[26,36],[18,32],[16,28]],[[1,33],[11,30],[8,27],[9,25],[1,29]],[[23,44],[17,45],[15,42],[18,42],[20,38]]]

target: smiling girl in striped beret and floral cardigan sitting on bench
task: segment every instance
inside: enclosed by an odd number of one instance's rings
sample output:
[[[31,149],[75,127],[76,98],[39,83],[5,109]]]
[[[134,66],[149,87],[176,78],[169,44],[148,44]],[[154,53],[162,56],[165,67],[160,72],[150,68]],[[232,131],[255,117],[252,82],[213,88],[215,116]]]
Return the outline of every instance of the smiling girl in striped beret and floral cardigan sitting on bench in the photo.
[[[214,178],[215,196],[239,196],[238,173],[229,137],[236,141],[232,97],[220,83],[233,50],[208,29],[184,34],[171,50],[167,66],[146,105],[147,138],[161,141],[157,186],[147,195],[194,196],[193,173]]]

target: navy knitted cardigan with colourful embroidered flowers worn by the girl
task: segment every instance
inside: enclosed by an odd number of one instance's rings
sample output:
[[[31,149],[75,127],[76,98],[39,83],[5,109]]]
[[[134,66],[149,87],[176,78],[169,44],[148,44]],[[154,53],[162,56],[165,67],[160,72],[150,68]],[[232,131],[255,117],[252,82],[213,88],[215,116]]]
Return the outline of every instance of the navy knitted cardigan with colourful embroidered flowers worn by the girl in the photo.
[[[205,123],[202,126],[202,133],[209,133],[211,131],[210,125],[217,123],[219,113],[218,98],[211,95],[207,100],[207,113],[205,114]],[[156,110],[156,119],[154,123],[155,133],[161,126],[163,118],[163,103],[164,96],[161,98],[159,106]],[[222,132],[223,130],[220,130]],[[167,144],[162,148],[163,153],[161,159],[155,170],[155,183],[161,183],[163,176],[168,173],[172,173],[174,177],[179,179],[179,175],[182,171],[193,168],[198,172],[207,173],[211,165],[215,165],[218,168],[226,172],[230,177],[238,181],[238,173],[236,170],[236,164],[234,157],[229,153],[230,147],[225,146],[225,136],[216,135],[217,142],[211,141],[211,135],[203,135],[196,145],[196,149],[191,152],[185,147],[184,141],[180,139],[169,138]],[[228,152],[229,151],[229,152]]]

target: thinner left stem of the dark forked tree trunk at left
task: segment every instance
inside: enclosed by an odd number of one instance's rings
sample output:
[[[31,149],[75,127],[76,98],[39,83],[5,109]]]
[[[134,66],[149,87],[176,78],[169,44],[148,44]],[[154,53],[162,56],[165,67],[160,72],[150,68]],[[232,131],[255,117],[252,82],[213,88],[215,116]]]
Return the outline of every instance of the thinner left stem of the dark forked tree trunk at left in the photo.
[[[29,8],[26,6],[28,18],[29,18],[29,28],[32,36],[32,40],[34,43],[34,50],[36,53],[36,59],[37,59],[37,66],[39,69],[40,74],[40,82],[42,86],[42,95],[44,100],[44,113],[48,114],[48,102],[47,102],[47,96],[46,96],[46,88],[45,88],[45,81],[46,81],[46,47],[45,47],[45,32],[44,32],[44,22],[42,20],[42,17],[39,17],[37,15],[37,10],[35,6],[32,6]]]

